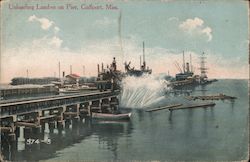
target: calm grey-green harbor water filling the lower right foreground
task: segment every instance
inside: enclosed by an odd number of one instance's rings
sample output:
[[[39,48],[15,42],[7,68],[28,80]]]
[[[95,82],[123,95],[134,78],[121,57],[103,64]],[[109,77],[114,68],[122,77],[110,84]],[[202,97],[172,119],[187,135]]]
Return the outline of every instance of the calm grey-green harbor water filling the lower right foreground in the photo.
[[[68,129],[44,136],[52,144],[25,146],[18,142],[12,160],[209,160],[232,161],[247,158],[248,152],[248,83],[247,80],[219,80],[205,87],[193,88],[192,95],[218,94],[235,96],[231,101],[215,101],[213,108],[145,112],[132,111],[127,122],[85,120]],[[158,97],[162,97],[159,95]],[[187,103],[182,94],[167,95],[151,106]],[[138,105],[137,105],[138,106]],[[140,105],[139,105],[140,106]],[[47,127],[47,126],[46,126]]]

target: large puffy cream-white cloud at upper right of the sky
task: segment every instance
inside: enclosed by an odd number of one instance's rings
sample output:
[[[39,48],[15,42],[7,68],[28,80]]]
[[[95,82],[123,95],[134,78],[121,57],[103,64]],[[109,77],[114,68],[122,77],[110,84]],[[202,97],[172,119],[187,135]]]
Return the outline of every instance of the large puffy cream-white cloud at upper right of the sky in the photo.
[[[212,29],[205,26],[204,21],[198,17],[195,17],[194,19],[186,19],[179,24],[179,28],[191,35],[205,35],[208,42],[213,38]]]

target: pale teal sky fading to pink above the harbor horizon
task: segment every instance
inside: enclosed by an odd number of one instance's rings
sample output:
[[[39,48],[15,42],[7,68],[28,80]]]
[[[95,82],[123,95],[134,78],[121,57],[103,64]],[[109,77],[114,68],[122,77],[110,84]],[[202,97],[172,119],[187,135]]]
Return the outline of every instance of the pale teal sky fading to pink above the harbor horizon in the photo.
[[[80,76],[96,76],[97,64],[113,57],[122,71],[125,61],[139,68],[143,41],[156,74],[178,73],[183,51],[196,74],[202,52],[209,78],[249,74],[246,1],[5,0],[0,21],[1,83],[26,77],[27,69],[29,77],[58,76],[59,61],[61,72],[72,65]]]

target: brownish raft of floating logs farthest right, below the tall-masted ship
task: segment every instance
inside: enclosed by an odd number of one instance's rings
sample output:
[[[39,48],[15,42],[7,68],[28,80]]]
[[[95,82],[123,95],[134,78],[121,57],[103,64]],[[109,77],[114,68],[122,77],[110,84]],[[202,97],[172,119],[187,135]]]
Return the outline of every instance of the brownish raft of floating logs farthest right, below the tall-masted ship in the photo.
[[[218,95],[208,95],[208,96],[188,96],[186,97],[188,100],[234,100],[237,97],[227,96],[225,94]]]

